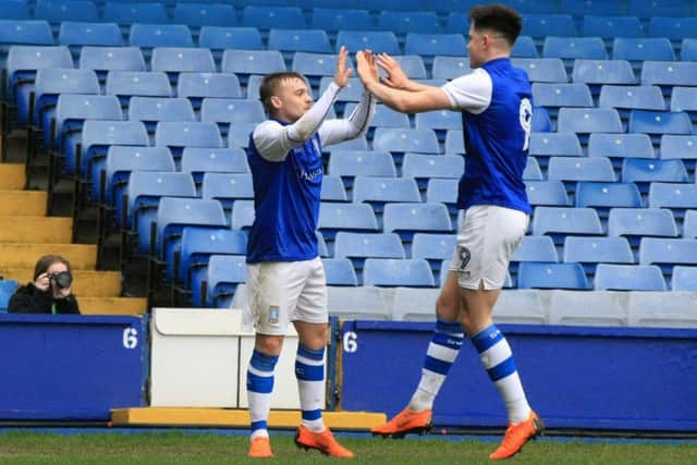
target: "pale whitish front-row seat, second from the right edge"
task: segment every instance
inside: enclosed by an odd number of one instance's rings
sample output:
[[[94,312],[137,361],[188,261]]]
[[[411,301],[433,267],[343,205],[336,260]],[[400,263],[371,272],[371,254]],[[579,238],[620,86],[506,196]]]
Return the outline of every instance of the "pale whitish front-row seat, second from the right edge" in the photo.
[[[612,292],[552,292],[549,304],[551,325],[624,327],[626,310]]]

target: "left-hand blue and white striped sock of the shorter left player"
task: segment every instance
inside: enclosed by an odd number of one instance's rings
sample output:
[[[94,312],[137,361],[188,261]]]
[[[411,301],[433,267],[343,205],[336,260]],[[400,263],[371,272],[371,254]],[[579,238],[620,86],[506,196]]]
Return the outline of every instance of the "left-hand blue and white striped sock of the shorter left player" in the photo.
[[[276,355],[266,355],[259,351],[252,353],[247,368],[247,401],[252,419],[252,439],[269,437],[267,421],[271,409],[271,392],[273,392],[273,368],[279,360]]]

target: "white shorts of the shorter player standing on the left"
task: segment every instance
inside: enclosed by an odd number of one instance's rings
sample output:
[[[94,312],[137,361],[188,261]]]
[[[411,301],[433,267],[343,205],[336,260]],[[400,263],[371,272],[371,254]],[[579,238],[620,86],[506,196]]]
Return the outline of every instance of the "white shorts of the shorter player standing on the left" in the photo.
[[[321,260],[247,265],[247,308],[259,334],[285,335],[288,323],[329,321]]]

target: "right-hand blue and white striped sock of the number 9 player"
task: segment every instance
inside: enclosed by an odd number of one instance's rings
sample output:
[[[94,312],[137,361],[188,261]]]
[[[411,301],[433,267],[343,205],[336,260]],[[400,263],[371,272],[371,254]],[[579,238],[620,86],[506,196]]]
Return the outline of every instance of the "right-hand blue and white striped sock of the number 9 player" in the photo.
[[[472,343],[479,352],[479,359],[494,383],[509,413],[509,421],[512,424],[525,421],[530,415],[530,406],[525,397],[523,384],[511,346],[499,331],[496,325],[484,329],[474,336]]]

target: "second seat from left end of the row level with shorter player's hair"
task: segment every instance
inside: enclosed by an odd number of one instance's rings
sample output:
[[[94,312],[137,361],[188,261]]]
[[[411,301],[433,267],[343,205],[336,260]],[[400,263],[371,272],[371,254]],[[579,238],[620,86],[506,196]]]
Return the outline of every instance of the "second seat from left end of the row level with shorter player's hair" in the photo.
[[[110,71],[105,93],[119,97],[127,107],[131,97],[171,97],[172,87],[167,74],[151,71]]]

